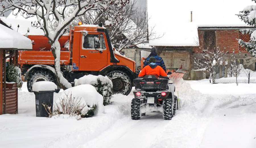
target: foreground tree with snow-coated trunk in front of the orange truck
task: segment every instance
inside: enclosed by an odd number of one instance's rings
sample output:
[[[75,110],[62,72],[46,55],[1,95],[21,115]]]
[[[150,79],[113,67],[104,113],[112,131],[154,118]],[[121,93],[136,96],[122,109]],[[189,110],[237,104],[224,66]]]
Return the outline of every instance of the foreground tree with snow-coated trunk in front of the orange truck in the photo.
[[[71,84],[63,77],[60,70],[60,43],[58,39],[63,35],[68,25],[76,17],[84,15],[90,10],[108,11],[115,17],[123,13],[123,7],[130,0],[0,0],[3,10],[0,15],[7,11],[18,9],[24,18],[35,16],[36,21],[31,23],[34,27],[40,27],[44,31],[51,45],[54,57],[55,72],[57,81],[63,89],[71,87]],[[71,8],[75,7],[72,12]],[[18,15],[16,13],[15,15]],[[55,23],[56,28],[51,30],[51,23]]]

